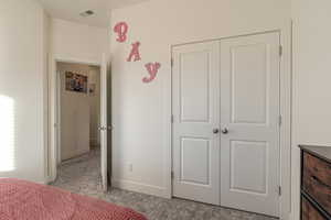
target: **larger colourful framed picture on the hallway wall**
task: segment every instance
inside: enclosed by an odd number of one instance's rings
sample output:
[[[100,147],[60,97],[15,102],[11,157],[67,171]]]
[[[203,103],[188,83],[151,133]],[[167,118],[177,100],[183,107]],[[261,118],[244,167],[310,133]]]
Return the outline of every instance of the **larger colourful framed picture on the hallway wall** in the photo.
[[[87,76],[66,72],[65,90],[87,94]]]

